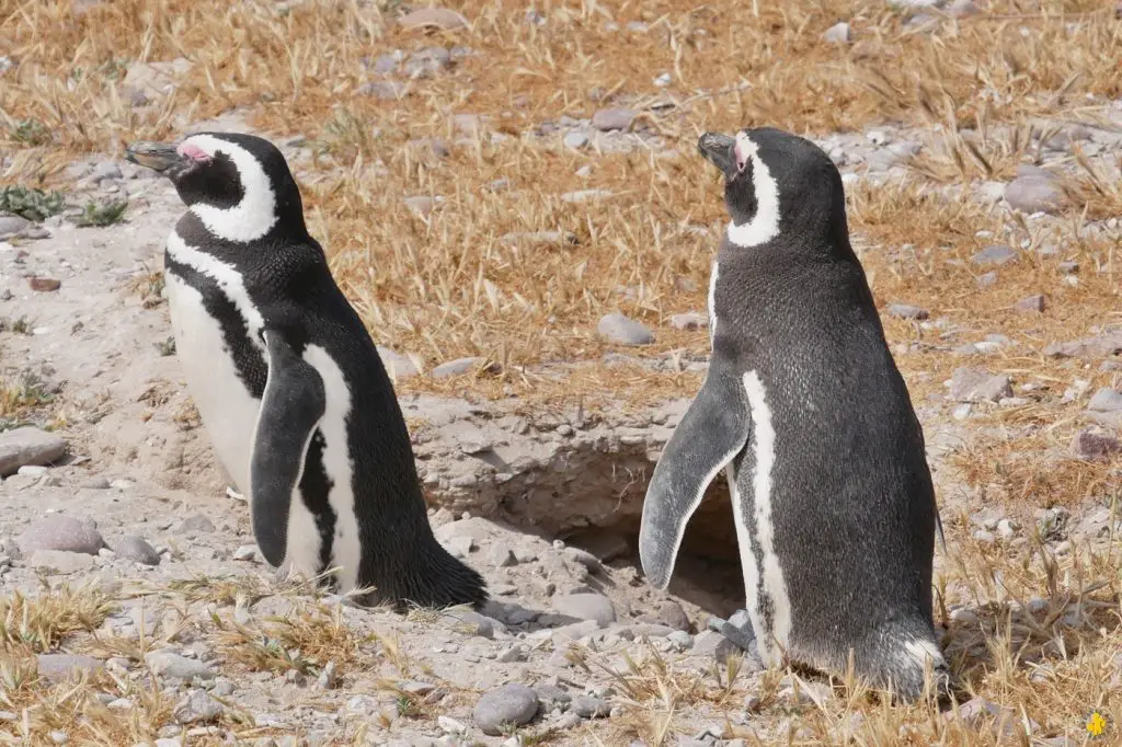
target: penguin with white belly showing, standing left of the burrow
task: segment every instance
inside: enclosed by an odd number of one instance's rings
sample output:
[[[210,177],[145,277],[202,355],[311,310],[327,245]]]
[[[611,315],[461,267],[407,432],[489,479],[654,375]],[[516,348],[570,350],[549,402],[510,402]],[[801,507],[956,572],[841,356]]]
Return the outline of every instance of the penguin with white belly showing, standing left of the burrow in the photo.
[[[265,560],[359,603],[479,609],[484,579],[433,535],[393,385],[282,153],[199,132],[127,158],[186,205],[164,247],[176,351]]]

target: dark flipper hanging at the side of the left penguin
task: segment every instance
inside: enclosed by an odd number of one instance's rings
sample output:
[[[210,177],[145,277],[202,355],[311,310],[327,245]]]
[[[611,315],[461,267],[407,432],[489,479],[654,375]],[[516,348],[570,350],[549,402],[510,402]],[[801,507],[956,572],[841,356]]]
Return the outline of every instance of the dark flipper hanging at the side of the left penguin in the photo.
[[[249,511],[261,555],[279,566],[287,553],[288,513],[304,457],[327,408],[323,380],[277,330],[261,332],[268,378],[254,426]]]

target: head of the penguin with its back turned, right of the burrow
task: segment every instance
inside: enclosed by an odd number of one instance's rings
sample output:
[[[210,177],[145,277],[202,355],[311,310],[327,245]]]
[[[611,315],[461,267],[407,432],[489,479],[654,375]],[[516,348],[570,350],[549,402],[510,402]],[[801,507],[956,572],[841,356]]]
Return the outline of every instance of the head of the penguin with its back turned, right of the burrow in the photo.
[[[847,242],[842,175],[810,140],[764,127],[705,132],[698,150],[725,176],[730,243],[757,247],[781,234],[799,246]]]

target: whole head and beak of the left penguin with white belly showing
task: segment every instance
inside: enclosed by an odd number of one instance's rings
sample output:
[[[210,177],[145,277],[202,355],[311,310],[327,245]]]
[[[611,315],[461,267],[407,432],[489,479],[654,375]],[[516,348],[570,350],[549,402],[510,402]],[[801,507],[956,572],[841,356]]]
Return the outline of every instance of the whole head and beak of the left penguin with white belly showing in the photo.
[[[159,172],[219,239],[245,243],[283,231],[306,236],[296,179],[284,156],[264,138],[241,132],[199,132],[178,146],[135,142],[135,164]]]

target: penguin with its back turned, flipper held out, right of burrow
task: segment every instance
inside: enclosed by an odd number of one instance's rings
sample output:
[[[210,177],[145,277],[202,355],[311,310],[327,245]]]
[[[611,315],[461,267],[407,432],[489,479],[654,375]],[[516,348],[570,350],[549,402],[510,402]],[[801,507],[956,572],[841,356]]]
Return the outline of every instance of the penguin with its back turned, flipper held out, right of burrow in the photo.
[[[729,222],[709,282],[709,369],[644,497],[644,575],[666,588],[724,471],[763,663],[844,676],[852,653],[890,698],[941,700],[935,488],[849,243],[842,176],[818,146],[771,127],[706,132],[697,147],[724,175]]]

